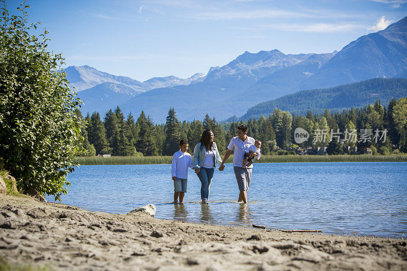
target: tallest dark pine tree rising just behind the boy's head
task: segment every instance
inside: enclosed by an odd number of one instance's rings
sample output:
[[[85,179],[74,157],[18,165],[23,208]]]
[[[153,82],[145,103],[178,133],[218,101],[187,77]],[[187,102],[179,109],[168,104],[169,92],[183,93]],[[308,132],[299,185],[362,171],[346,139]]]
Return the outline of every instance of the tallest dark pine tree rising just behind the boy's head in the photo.
[[[179,149],[180,144],[180,124],[176,111],[172,107],[168,111],[165,123],[164,155],[173,155]]]

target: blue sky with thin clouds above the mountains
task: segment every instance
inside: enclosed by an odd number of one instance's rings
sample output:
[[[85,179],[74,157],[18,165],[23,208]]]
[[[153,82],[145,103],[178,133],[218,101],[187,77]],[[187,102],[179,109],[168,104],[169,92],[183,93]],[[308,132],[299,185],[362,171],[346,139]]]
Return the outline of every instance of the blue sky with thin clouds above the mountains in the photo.
[[[9,9],[20,1],[8,0]],[[28,0],[68,66],[144,81],[207,73],[249,51],[327,53],[407,15],[407,0]]]

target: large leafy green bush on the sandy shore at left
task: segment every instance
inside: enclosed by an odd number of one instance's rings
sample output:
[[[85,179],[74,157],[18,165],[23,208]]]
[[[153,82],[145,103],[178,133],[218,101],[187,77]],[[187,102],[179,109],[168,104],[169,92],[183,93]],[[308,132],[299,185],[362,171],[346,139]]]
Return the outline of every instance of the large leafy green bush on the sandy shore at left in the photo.
[[[62,54],[47,51],[48,31],[35,36],[25,10],[10,15],[5,0],[0,19],[0,157],[19,180],[60,199],[68,173],[77,165],[82,124],[74,110],[81,101],[68,87]]]

